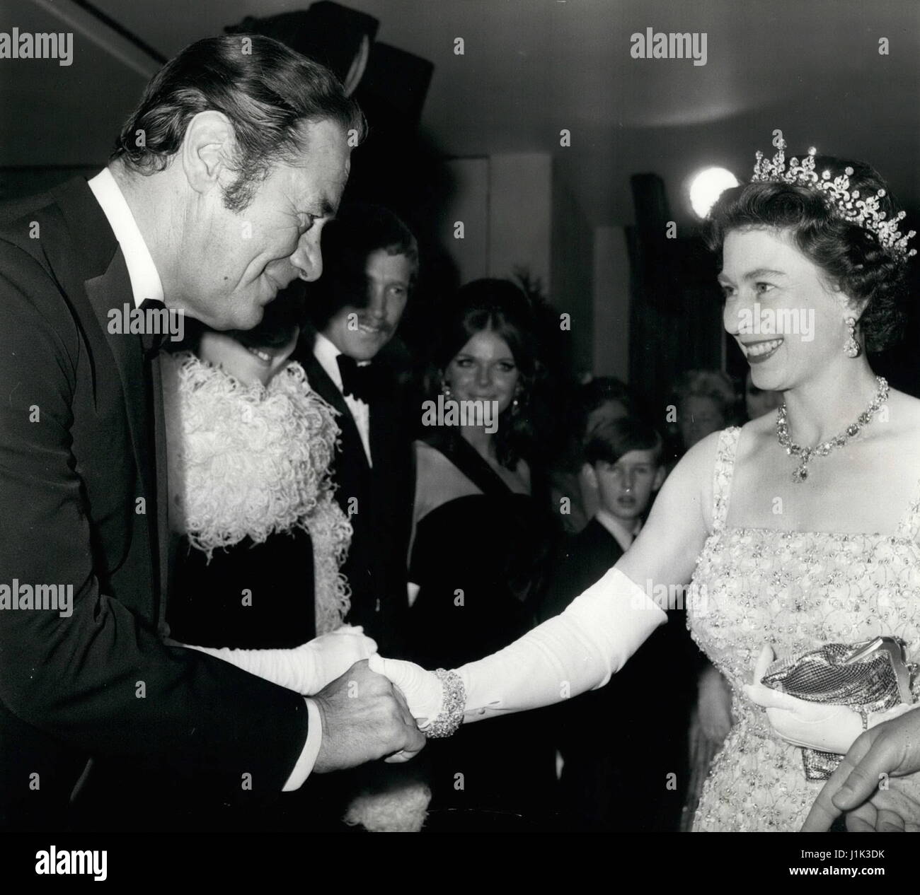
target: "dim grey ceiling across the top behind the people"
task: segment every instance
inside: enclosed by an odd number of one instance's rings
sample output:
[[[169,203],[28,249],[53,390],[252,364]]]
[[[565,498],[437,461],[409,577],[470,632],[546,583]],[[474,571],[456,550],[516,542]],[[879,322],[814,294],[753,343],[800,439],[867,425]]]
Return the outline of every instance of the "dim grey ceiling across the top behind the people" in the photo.
[[[35,2],[0,0],[0,22],[61,28]],[[166,55],[247,15],[309,4],[95,2]],[[868,160],[920,205],[916,0],[345,2],[380,19],[378,40],[434,63],[422,125],[444,153],[554,153],[593,224],[631,220],[638,171],[664,176],[683,218],[687,176],[710,163],[745,174],[774,128],[793,147]],[[707,32],[707,64],[632,59],[630,35],[646,28]],[[79,36],[70,68],[0,60],[0,164],[101,163],[143,80]]]

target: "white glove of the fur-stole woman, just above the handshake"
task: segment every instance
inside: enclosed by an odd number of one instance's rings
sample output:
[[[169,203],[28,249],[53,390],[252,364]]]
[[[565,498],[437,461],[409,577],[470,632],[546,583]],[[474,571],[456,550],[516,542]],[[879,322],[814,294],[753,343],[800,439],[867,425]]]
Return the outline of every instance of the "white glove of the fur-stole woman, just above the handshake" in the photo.
[[[289,650],[216,649],[190,643],[175,645],[206,652],[305,697],[318,693],[345,674],[354,663],[369,659],[377,651],[377,644],[364,636],[362,628],[348,625]]]

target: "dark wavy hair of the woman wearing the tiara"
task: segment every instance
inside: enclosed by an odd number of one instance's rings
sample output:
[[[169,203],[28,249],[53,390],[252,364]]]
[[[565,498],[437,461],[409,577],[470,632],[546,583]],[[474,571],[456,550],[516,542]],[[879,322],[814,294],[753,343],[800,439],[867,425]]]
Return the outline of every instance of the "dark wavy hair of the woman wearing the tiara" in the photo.
[[[860,196],[884,189],[880,209],[889,220],[898,208],[888,185],[868,164],[819,155],[815,169],[832,176],[853,168],[850,190]],[[768,228],[791,232],[799,251],[830,283],[863,302],[859,325],[868,351],[891,346],[903,332],[906,265],[879,243],[875,233],[841,218],[822,193],[797,184],[751,183],[726,190],[709,212],[706,241],[721,253],[726,233]]]

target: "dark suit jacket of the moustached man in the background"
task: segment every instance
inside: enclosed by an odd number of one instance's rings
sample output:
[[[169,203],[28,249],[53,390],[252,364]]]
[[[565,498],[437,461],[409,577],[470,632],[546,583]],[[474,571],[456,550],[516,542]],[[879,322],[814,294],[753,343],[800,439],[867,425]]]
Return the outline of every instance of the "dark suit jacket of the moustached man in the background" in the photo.
[[[369,466],[358,426],[338,386],[313,353],[313,334],[305,333],[293,356],[306,370],[310,385],[339,416],[341,430],[333,480],[336,500],[351,520],[353,534],[342,572],[351,584],[347,621],[362,625],[377,641],[381,655],[397,656],[405,644],[408,539],[415,497],[415,468],[405,402],[387,365],[379,371],[378,394],[369,404]],[[356,512],[355,512],[356,510]]]

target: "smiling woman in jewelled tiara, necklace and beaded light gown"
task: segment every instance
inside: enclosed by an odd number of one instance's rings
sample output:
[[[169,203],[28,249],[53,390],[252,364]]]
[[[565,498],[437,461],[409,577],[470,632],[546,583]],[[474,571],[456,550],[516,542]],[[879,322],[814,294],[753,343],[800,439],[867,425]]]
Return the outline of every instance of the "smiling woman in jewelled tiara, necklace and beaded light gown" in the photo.
[[[834,754],[864,726],[917,710],[903,689],[894,705],[857,710],[763,683],[775,655],[811,667],[807,653],[849,655],[879,637],[920,657],[920,401],[889,388],[866,356],[898,330],[911,234],[868,165],[813,150],[787,160],[777,144],[709,221],[725,328],[757,387],[783,392],[776,414],[691,447],[614,568],[511,646],[455,672],[371,660],[422,730],[447,736],[604,685],[664,621],[673,588],[689,584],[688,625],[728,679],[735,719],[696,810],[700,831],[798,830]],[[743,323],[755,306],[807,315],[811,338],[804,325],[753,334]],[[896,811],[909,782],[891,776],[870,798]]]

